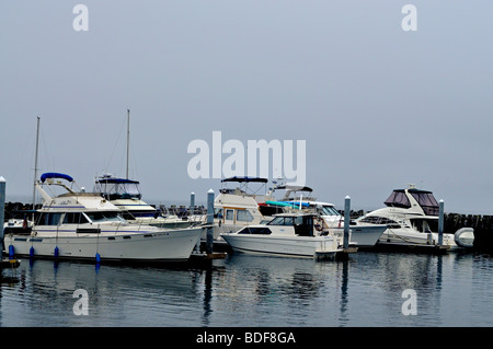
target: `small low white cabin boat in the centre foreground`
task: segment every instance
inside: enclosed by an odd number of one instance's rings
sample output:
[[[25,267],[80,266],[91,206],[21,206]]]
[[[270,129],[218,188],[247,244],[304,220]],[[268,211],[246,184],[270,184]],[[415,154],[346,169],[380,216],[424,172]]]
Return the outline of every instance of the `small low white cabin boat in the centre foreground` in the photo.
[[[244,226],[221,234],[236,252],[285,257],[330,258],[343,251],[344,231],[321,233],[314,228],[314,214],[279,213],[266,224]]]

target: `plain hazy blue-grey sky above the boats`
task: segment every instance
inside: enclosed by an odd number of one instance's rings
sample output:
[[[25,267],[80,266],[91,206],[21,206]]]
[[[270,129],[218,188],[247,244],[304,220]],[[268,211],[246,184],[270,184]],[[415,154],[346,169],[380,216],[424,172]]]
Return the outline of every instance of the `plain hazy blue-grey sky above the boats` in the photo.
[[[76,32],[72,9],[89,9]],[[402,7],[417,9],[405,32]],[[409,183],[493,214],[492,1],[2,1],[0,175],[130,176],[152,203],[205,202],[187,146],[306,140],[320,200],[375,209]],[[226,158],[225,155],[223,158]]]

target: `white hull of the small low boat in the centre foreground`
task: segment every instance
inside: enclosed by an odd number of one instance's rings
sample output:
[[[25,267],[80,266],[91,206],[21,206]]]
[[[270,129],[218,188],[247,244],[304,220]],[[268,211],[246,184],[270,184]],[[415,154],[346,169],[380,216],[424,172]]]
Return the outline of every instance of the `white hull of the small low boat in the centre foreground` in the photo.
[[[314,258],[317,255],[335,255],[342,251],[337,241],[329,236],[253,236],[223,234],[223,240],[236,252],[253,255]]]

